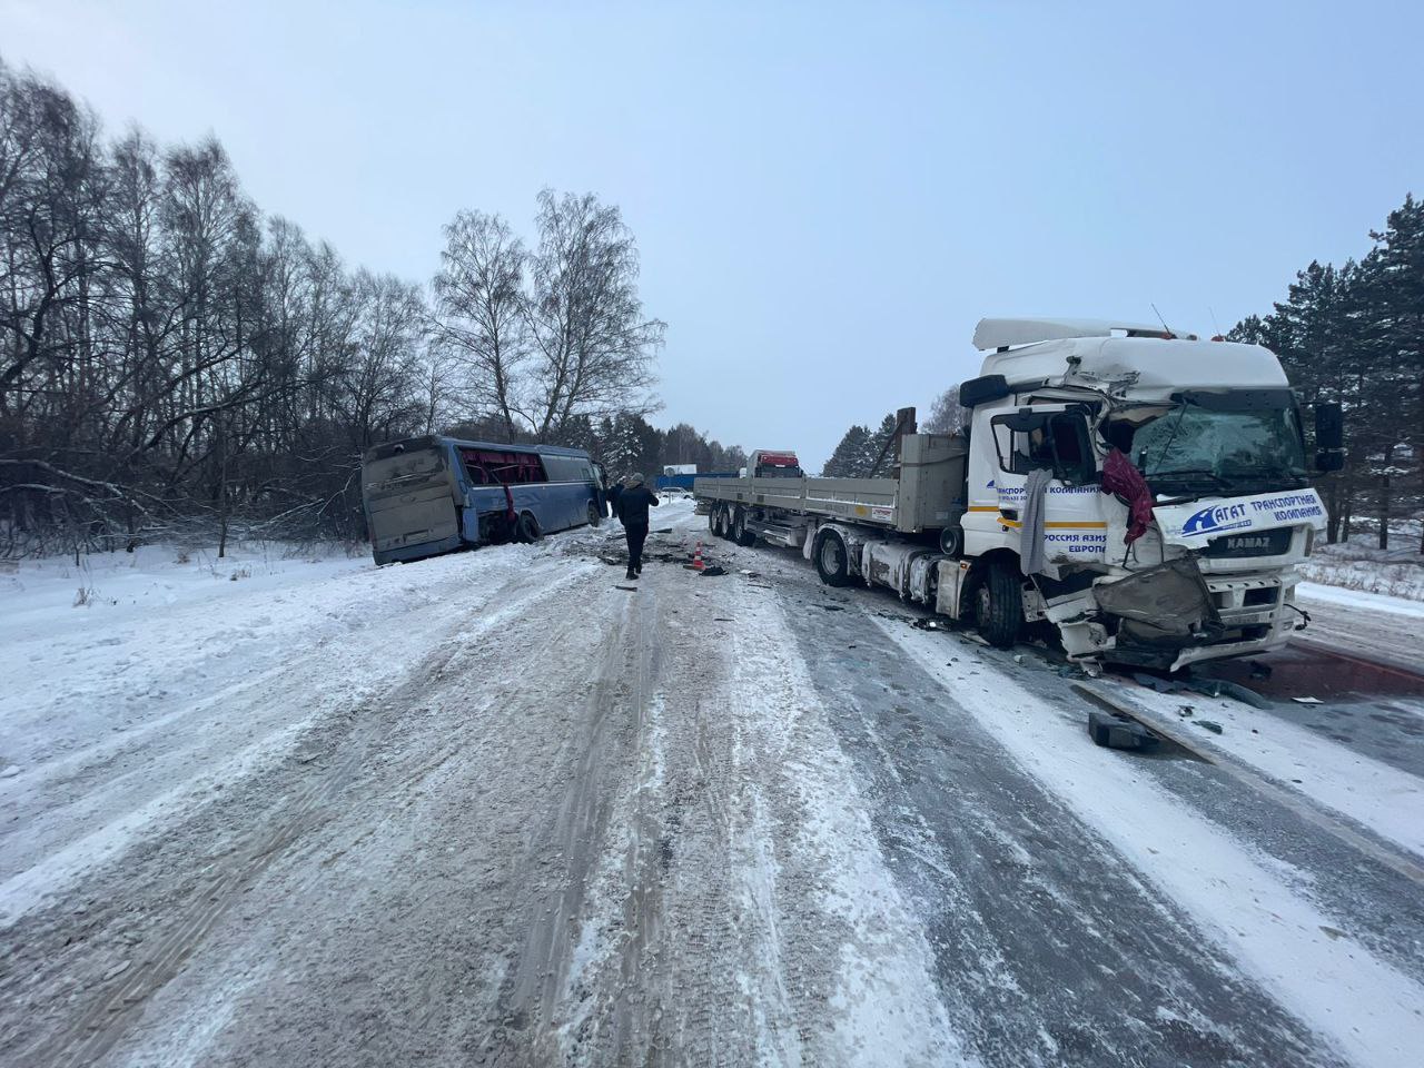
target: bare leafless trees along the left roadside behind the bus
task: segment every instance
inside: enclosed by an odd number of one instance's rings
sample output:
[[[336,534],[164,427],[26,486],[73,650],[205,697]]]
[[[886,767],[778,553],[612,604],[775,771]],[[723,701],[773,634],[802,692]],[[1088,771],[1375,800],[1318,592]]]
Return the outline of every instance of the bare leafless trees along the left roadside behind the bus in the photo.
[[[665,326],[617,206],[545,189],[531,242],[476,211],[444,241],[429,286],[350,268],[216,140],[107,138],[0,60],[0,554],[357,538],[362,450],[422,433],[726,460],[638,437]]]

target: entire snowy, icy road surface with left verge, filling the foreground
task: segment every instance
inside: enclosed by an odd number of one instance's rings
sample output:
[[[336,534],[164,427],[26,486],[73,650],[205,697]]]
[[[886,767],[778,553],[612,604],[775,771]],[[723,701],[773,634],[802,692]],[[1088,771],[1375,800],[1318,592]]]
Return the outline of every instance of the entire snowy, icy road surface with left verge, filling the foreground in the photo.
[[[0,1064],[1421,1064],[1415,699],[1115,753],[1031,649],[609,538],[0,574]]]

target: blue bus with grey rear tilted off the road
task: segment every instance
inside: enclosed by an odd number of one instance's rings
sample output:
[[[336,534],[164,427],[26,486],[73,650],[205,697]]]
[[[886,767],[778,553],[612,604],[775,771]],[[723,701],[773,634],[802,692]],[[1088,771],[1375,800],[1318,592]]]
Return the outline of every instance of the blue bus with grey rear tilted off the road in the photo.
[[[598,525],[607,481],[580,449],[431,434],[367,449],[362,503],[372,555],[389,564]]]

